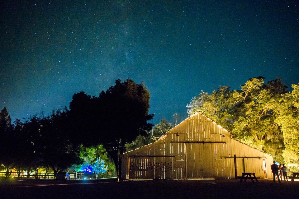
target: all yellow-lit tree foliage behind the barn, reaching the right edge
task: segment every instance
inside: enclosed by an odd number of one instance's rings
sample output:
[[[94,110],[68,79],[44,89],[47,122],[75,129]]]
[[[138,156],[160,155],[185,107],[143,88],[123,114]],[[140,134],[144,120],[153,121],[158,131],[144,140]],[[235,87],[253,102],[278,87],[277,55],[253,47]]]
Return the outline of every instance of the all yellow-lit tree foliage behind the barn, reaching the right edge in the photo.
[[[288,93],[281,78],[267,84],[263,80],[261,76],[250,78],[241,90],[219,86],[211,94],[202,91],[187,104],[187,113],[201,111],[235,139],[275,155],[278,162],[297,164],[296,157],[291,158],[292,153],[298,154],[298,145],[294,144],[298,143],[297,85]]]

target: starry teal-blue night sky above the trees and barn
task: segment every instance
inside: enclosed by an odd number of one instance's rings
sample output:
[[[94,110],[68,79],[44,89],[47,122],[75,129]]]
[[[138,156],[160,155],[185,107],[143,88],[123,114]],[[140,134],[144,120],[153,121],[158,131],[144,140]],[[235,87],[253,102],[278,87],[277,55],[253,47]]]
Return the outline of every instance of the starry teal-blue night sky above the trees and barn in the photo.
[[[0,109],[12,120],[69,107],[131,78],[151,121],[179,122],[201,90],[249,78],[299,82],[298,1],[1,1]]]

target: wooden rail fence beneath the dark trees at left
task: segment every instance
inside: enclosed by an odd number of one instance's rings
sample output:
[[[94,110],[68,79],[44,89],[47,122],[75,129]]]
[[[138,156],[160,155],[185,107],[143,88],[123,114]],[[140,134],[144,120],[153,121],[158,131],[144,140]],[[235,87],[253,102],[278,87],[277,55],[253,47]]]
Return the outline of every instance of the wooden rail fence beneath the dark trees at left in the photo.
[[[83,179],[84,173],[76,172],[76,173],[69,173],[70,179]],[[0,177],[5,177],[4,172],[0,172]],[[18,178],[18,173],[17,172],[12,172],[9,175],[10,178]],[[39,179],[54,179],[54,174],[53,173],[37,173],[37,177]],[[22,172],[19,178],[36,178],[35,173],[31,173],[28,177],[27,173]]]

